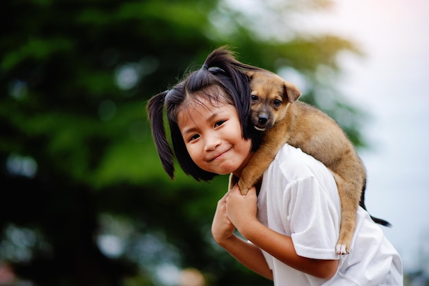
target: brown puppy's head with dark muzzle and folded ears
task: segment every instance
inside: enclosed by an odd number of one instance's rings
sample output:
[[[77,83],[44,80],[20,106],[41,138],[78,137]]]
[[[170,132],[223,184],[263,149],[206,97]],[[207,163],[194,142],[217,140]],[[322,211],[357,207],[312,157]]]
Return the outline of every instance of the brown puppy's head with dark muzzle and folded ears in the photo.
[[[265,131],[286,115],[289,104],[300,96],[299,89],[269,71],[247,71],[252,91],[252,124]]]

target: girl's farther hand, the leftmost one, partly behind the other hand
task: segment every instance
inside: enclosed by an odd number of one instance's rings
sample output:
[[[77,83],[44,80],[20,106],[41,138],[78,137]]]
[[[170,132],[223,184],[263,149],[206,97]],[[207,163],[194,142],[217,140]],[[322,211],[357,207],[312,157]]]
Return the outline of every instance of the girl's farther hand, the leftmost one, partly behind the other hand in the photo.
[[[215,217],[213,217],[212,222],[212,235],[215,241],[222,245],[224,241],[227,241],[234,235],[235,226],[232,224],[228,215],[226,214],[226,198],[228,198],[228,193],[223,195],[223,198],[217,202],[217,208],[215,212]]]

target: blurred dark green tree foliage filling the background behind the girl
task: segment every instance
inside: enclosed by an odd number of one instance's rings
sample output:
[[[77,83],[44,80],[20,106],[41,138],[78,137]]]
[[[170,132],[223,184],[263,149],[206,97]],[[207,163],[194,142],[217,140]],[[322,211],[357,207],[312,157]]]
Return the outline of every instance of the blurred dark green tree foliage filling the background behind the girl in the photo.
[[[364,144],[360,111],[334,85],[339,53],[358,50],[283,21],[330,2],[253,3],[258,16],[233,1],[3,3],[0,266],[44,286],[174,285],[185,267],[208,285],[269,283],[212,242],[228,179],[197,183],[177,170],[171,182],[145,114],[151,95],[228,44],[242,62],[297,75],[302,99],[322,96]]]

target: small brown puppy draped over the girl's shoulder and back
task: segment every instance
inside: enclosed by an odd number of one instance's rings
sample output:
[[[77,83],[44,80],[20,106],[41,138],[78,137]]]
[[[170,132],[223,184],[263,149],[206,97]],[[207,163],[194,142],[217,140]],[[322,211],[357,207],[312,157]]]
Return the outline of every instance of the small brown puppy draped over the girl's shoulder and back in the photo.
[[[269,71],[246,71],[251,78],[252,123],[264,130],[262,143],[243,169],[238,185],[243,195],[256,184],[284,143],[320,160],[334,174],[341,200],[338,254],[350,252],[356,211],[365,189],[362,161],[341,127],[321,110],[297,102],[301,93]],[[230,187],[233,183],[230,180]]]

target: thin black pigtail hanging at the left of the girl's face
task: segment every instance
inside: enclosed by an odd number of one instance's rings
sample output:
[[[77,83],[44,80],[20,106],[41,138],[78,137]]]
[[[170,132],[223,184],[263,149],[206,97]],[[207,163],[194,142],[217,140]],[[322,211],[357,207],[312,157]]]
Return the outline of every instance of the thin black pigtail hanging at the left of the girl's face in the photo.
[[[173,151],[167,141],[167,136],[164,128],[164,101],[169,91],[164,91],[158,95],[154,95],[147,102],[147,115],[151,123],[152,136],[158,155],[162,163],[162,167],[173,180],[174,178],[174,164],[173,164]]]

